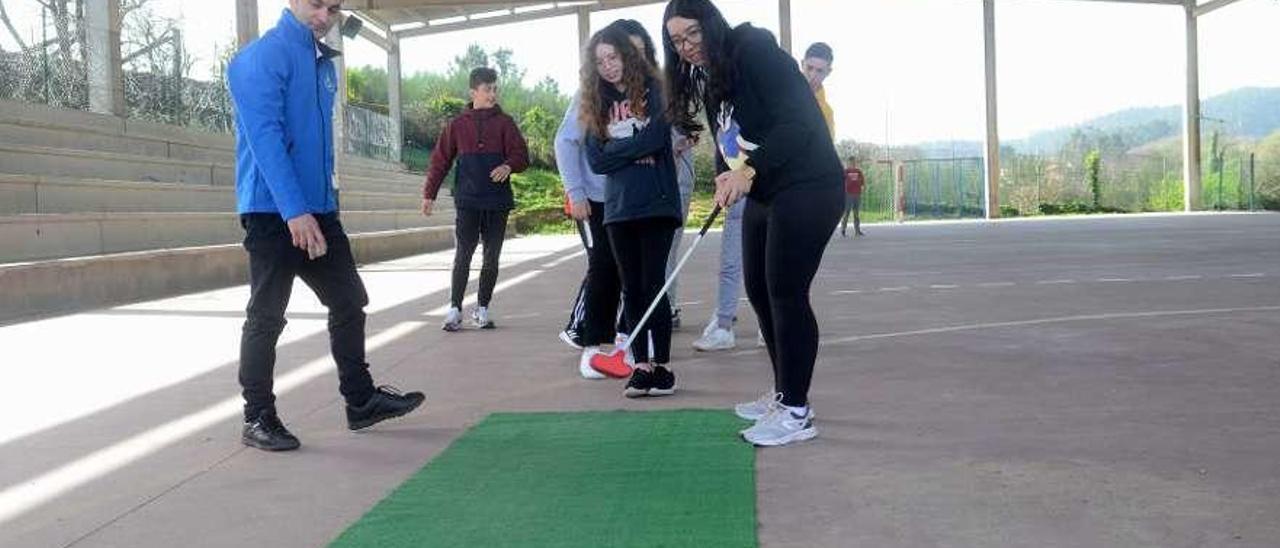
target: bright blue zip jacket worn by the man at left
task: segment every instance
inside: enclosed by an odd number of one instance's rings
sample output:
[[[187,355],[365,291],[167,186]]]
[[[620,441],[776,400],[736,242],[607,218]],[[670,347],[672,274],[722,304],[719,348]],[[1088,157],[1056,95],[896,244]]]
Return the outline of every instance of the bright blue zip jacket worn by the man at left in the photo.
[[[227,68],[236,104],[236,209],[284,220],[338,209],[333,191],[333,56],[284,10]]]

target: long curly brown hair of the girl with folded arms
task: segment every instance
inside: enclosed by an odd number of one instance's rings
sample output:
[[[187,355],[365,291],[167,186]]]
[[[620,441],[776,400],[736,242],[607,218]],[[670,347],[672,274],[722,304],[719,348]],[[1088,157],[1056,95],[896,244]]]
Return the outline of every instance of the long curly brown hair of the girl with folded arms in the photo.
[[[618,26],[608,26],[591,36],[582,52],[582,67],[579,69],[581,82],[581,104],[579,105],[577,119],[582,129],[600,140],[608,137],[609,113],[604,104],[604,90],[609,86],[595,68],[595,49],[600,44],[608,44],[622,58],[622,87],[626,88],[627,100],[631,101],[631,113],[644,119],[650,115],[649,105],[645,105],[646,85],[658,81],[655,68],[631,44],[631,36]],[[660,114],[660,113],[659,113]]]

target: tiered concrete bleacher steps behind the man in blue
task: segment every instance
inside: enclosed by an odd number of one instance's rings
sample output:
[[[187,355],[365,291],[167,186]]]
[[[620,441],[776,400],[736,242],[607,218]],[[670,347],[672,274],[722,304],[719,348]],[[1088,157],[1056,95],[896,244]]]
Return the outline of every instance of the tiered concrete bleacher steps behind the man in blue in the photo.
[[[0,101],[0,321],[246,282],[236,140]],[[422,177],[342,155],[357,260],[453,245],[452,200],[425,218]]]

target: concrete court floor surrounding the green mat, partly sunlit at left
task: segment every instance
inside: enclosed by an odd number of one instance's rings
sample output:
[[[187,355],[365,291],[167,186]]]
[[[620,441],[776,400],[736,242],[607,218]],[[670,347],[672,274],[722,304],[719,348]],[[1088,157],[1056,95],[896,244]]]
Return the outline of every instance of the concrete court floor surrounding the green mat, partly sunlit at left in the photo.
[[[867,232],[813,288],[820,437],[758,452],[762,545],[1280,545],[1280,215]],[[749,307],[737,351],[689,346],[718,243],[681,277],[681,391],[658,401],[577,378],[556,339],[572,237],[507,242],[494,332],[439,330],[448,252],[364,268],[375,379],[428,403],[360,434],[300,283],[283,455],[237,439],[244,287],[0,326],[0,547],[323,545],[489,412],[750,398],[771,376]]]

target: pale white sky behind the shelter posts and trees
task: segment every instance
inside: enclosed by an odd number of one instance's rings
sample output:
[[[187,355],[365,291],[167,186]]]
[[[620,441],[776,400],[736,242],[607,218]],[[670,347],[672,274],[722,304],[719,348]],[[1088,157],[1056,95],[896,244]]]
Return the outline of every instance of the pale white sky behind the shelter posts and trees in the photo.
[[[19,32],[38,36],[31,0],[5,0]],[[214,49],[234,40],[230,0],[152,0],[163,17],[184,20],[196,77]],[[259,0],[261,28],[275,24],[285,0]],[[773,0],[722,0],[731,23],[777,31]],[[796,54],[813,41],[836,52],[827,82],[841,138],[909,143],[979,140],[983,134],[980,0],[792,0]],[[660,28],[662,4],[595,13],[593,28],[632,18]],[[837,15],[838,12],[838,15]],[[1075,0],[996,4],[1000,131],[1002,138],[1069,125],[1129,106],[1183,101],[1184,19],[1162,5]],[[561,17],[407,40],[403,70],[440,70],[468,44],[508,47],[527,82],[552,77],[570,92],[577,81],[576,17]],[[1280,86],[1280,1],[1242,0],[1201,19],[1201,93]],[[13,47],[8,33],[0,46]],[[31,40],[28,40],[31,41]],[[385,64],[364,40],[348,41],[349,65]],[[1270,55],[1268,55],[1270,52]]]

